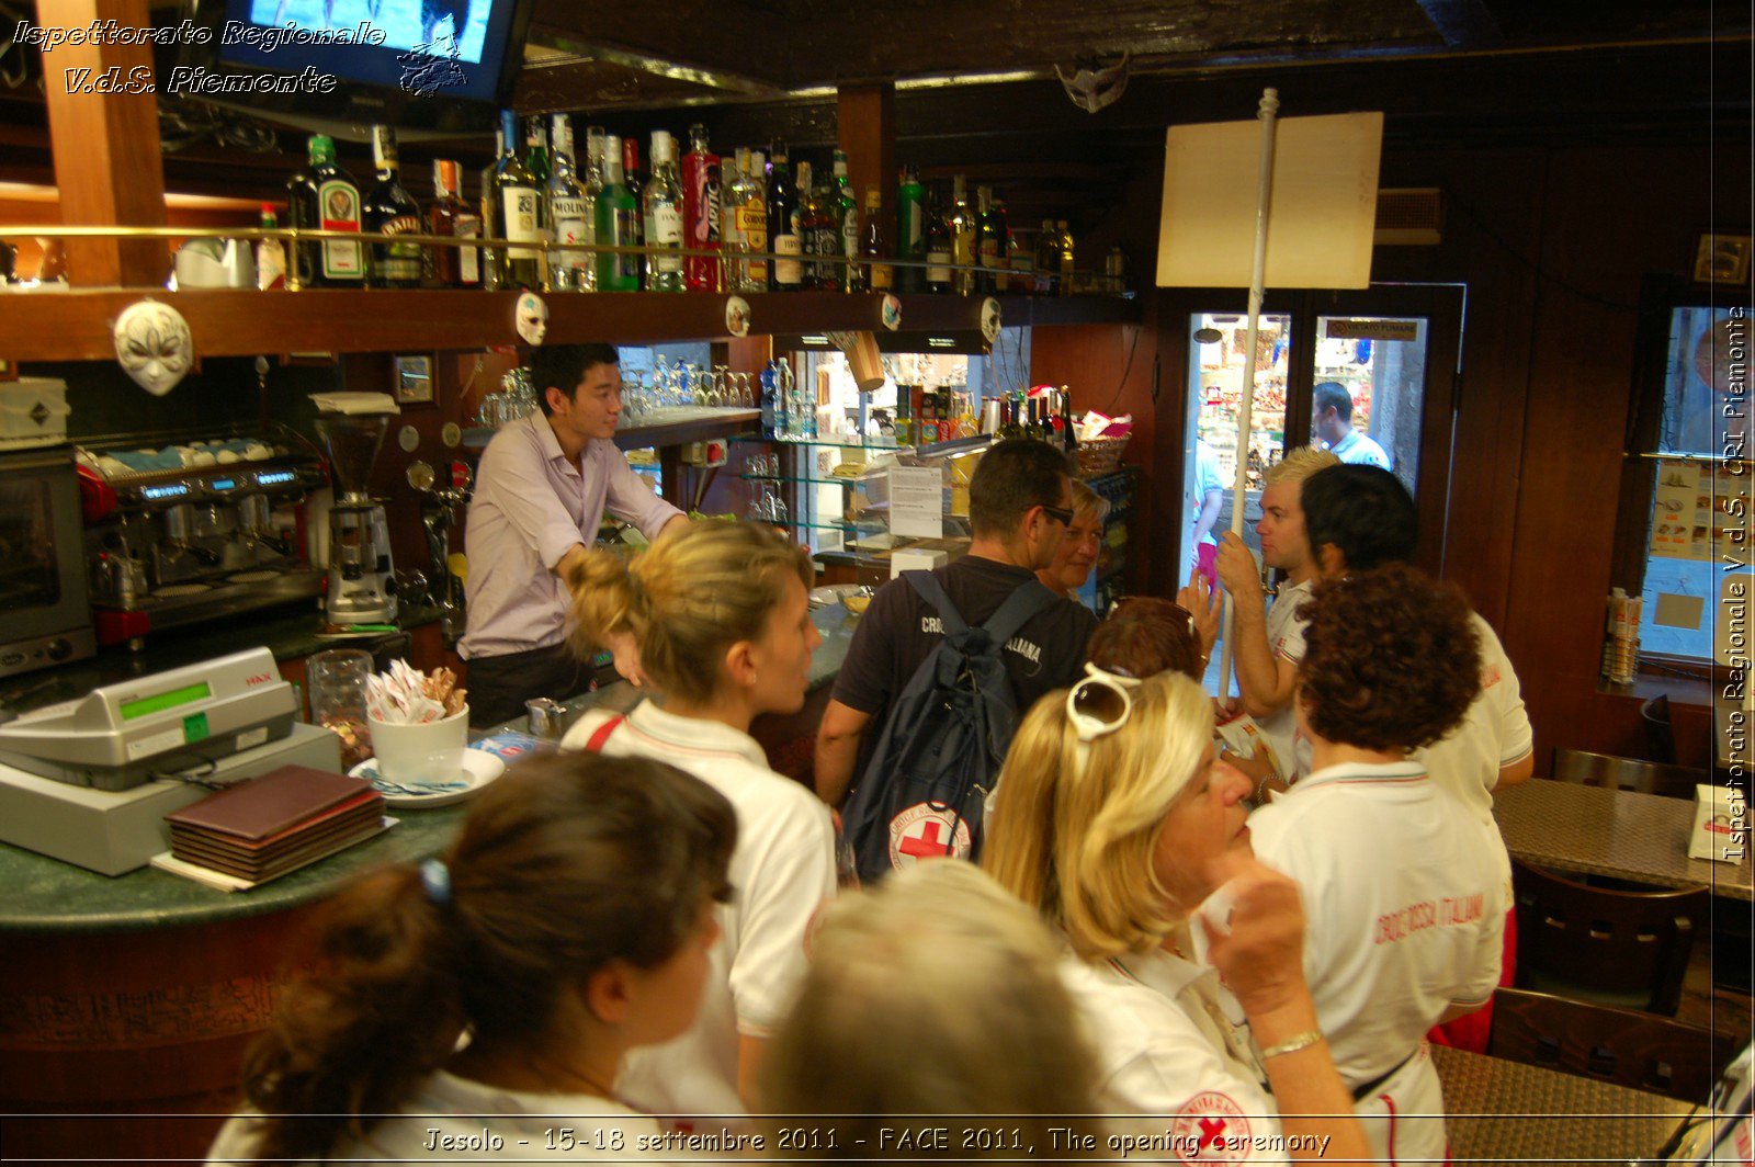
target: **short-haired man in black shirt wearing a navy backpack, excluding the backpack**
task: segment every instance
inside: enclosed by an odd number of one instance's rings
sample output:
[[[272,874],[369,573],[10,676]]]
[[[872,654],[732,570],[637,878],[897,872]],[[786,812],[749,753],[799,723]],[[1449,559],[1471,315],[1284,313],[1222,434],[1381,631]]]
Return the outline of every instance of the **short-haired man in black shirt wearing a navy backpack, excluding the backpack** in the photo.
[[[969,553],[932,576],[963,623],[976,628],[1018,588],[1041,586],[1035,572],[1053,563],[1071,523],[1065,455],[1046,442],[999,442],[969,483]],[[816,793],[830,805],[841,805],[853,777],[865,772],[892,698],[937,649],[941,628],[939,614],[904,579],[872,597],[816,732]],[[1088,609],[1057,598],[1006,642],[1006,676],[1020,714],[1079,677],[1095,628]]]

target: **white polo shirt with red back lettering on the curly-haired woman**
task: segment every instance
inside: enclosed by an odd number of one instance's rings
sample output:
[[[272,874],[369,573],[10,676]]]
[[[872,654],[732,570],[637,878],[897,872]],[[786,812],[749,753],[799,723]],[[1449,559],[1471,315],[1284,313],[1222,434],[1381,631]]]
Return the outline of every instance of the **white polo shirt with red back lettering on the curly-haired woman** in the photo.
[[[1418,762],[1330,765],[1250,816],[1255,855],[1302,891],[1304,976],[1348,1088],[1416,1058],[1367,1102],[1427,1109],[1427,1030],[1499,984],[1509,900],[1488,834]],[[1395,1153],[1441,1156],[1441,1125],[1420,1132]]]

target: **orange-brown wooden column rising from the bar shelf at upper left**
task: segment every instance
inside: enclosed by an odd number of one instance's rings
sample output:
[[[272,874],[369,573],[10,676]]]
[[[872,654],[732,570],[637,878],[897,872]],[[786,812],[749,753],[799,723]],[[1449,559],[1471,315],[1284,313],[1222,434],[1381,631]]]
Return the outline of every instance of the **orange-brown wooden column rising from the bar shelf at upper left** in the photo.
[[[37,2],[42,28],[90,28],[91,21],[116,21],[119,28],[149,28],[153,23],[147,0]],[[154,93],[97,91],[125,86],[130,79],[151,79],[153,47],[58,44],[44,53],[42,72],[61,221],[68,226],[163,226],[158,98]],[[95,88],[88,93],[86,86]],[[70,239],[68,279],[86,288],[156,288],[165,283],[167,254],[165,240],[158,239]]]

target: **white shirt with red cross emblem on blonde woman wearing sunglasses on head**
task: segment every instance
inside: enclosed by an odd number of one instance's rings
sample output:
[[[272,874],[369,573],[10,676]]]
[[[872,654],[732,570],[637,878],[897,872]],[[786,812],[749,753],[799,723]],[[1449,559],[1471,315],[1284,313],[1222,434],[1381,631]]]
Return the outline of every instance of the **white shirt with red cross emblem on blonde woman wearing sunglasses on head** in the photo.
[[[1097,1051],[1099,1104],[1121,1116],[1111,1127],[1132,1135],[1171,1132],[1186,1155],[1178,1158],[1174,1146],[1151,1151],[1169,1162],[1207,1162],[1192,1149],[1202,1141],[1213,1162],[1286,1162],[1255,1144],[1279,1134],[1279,1113],[1262,1086],[1248,1030],[1234,1030],[1220,1011],[1228,993],[1213,969],[1157,949],[1100,963],[1067,955],[1060,977]]]

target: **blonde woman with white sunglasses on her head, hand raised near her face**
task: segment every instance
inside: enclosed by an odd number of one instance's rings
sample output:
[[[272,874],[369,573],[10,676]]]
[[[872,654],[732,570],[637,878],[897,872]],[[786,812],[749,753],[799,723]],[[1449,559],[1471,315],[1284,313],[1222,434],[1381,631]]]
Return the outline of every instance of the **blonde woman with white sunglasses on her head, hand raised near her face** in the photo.
[[[1086,665],[1020,727],[981,863],[1065,941],[1104,1111],[1151,1116],[1155,1149],[1190,1160],[1365,1158],[1304,983],[1299,891],[1250,855],[1248,791],[1214,763],[1199,684]]]

